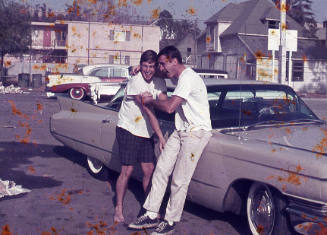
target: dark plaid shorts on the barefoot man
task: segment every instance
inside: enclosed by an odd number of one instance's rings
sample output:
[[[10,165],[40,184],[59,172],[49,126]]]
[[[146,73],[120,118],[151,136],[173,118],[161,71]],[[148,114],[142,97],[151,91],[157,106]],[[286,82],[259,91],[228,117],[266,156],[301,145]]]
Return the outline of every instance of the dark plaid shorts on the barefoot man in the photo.
[[[133,135],[118,126],[116,127],[116,138],[122,165],[135,165],[138,162],[154,162],[153,138]]]

